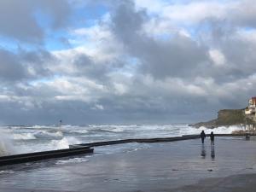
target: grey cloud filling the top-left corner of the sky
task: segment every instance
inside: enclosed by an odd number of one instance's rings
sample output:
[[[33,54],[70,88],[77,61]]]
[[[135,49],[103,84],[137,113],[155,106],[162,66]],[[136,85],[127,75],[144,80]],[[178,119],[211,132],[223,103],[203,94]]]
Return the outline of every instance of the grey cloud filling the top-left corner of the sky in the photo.
[[[21,42],[42,43],[45,32],[36,14],[51,15],[52,27],[67,22],[70,8],[65,0],[2,0],[0,1],[0,35]],[[41,18],[42,19],[42,18]]]

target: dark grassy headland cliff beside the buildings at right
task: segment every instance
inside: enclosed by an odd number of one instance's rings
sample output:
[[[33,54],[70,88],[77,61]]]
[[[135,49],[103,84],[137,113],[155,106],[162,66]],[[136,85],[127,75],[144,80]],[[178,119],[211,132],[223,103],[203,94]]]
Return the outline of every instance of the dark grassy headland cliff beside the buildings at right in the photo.
[[[230,126],[241,124],[253,124],[256,122],[253,120],[253,115],[246,115],[244,109],[223,109],[218,111],[218,118],[207,122],[196,123],[194,126],[199,128],[205,126],[207,128],[216,128],[218,126]]]

